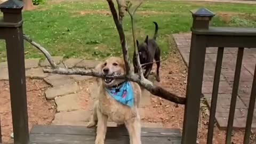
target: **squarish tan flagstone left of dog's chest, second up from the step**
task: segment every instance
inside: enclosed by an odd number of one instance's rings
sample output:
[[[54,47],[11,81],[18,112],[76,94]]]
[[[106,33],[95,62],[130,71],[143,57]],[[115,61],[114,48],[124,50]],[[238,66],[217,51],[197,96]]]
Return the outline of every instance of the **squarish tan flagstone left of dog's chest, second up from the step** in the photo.
[[[79,106],[78,95],[76,93],[56,97],[55,103],[57,105],[57,111],[74,111],[81,109]]]

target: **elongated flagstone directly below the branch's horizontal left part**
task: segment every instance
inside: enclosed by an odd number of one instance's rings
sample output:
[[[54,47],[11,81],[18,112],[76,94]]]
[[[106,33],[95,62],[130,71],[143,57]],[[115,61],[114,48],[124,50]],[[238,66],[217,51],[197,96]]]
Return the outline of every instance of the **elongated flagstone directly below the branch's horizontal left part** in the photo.
[[[75,80],[68,75],[52,74],[44,78],[44,81],[51,84],[52,86],[60,86],[63,84],[75,83]]]

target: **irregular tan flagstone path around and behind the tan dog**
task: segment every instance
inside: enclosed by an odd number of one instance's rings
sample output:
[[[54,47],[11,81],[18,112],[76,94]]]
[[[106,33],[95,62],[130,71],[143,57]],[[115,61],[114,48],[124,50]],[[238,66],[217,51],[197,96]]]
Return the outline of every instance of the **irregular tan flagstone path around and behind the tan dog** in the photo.
[[[99,61],[95,60],[84,60],[70,58],[64,60],[63,57],[52,58],[57,65],[63,67],[63,63],[68,68],[94,68]],[[62,63],[63,61],[63,63]],[[82,87],[79,85],[81,81],[93,80],[92,76],[81,76],[81,75],[58,75],[43,73],[43,67],[50,66],[47,60],[39,62],[39,59],[26,59],[26,77],[44,79],[46,83],[51,85],[45,91],[45,98],[55,100],[58,113],[55,114],[55,118],[52,121],[53,125],[78,125],[85,126],[89,121],[92,113],[93,103],[90,103],[87,109],[82,109],[79,106],[79,91]],[[0,81],[8,80],[8,69],[7,62],[0,62]],[[98,87],[95,84],[87,87],[90,91],[90,97],[95,98],[95,91]],[[145,118],[145,106],[150,105],[151,94],[148,91],[143,91],[143,97],[141,99],[141,105],[139,108],[141,118]],[[114,122],[108,122],[108,126],[117,126]],[[163,127],[162,123],[142,123],[143,127]]]

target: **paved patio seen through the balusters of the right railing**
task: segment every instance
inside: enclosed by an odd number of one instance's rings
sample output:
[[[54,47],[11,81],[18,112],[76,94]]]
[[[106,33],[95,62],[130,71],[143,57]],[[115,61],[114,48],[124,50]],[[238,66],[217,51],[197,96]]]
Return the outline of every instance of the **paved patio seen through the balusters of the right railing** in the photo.
[[[188,66],[191,34],[174,34],[173,36],[178,46],[178,49],[182,55],[182,58],[185,61],[186,65]],[[216,47],[209,47],[206,50],[202,93],[204,94],[209,106],[211,103],[215,62],[217,59],[217,50],[218,49]],[[222,60],[217,111],[215,115],[215,118],[217,119],[220,128],[227,127],[231,91],[236,66],[236,57],[237,49],[225,48]],[[245,49],[234,119],[234,128],[237,129],[244,128],[246,124],[247,108],[249,106],[250,101],[250,93],[252,88],[252,79],[254,74],[255,62],[256,50]],[[256,128],[255,108],[252,127]]]

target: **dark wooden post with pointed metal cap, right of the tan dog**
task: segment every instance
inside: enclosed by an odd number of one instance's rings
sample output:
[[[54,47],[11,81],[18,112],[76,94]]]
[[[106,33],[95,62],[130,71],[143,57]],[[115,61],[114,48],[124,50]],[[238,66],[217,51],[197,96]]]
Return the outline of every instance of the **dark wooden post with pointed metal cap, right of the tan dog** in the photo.
[[[196,35],[193,30],[208,29],[213,17],[207,9],[198,9],[192,12],[193,27],[188,66],[187,101],[185,105],[182,144],[196,144],[204,61],[206,52],[206,36]]]

